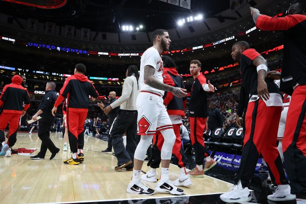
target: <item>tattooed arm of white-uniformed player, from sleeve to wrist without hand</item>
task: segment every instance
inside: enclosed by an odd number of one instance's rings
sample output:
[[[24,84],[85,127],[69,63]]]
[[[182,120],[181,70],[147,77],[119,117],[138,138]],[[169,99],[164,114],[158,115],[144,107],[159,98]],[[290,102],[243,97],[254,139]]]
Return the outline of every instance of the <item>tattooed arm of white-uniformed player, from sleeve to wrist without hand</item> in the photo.
[[[163,91],[170,91],[172,92],[174,87],[169,86],[165,83],[159,82],[158,80],[156,80],[156,78],[154,77],[154,73],[155,73],[155,68],[147,65],[145,66],[145,73],[144,73],[144,82],[145,84],[159,89],[159,90],[163,90]]]

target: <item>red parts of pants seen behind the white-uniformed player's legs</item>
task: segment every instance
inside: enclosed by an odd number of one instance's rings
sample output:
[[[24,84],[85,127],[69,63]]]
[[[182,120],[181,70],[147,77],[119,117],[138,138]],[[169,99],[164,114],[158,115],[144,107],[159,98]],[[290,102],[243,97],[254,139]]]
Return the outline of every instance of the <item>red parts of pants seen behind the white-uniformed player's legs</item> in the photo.
[[[173,145],[173,149],[172,149],[172,154],[174,154],[176,156],[176,158],[179,160],[179,167],[182,168],[184,167],[184,163],[183,163],[183,156],[180,152],[181,148],[182,148],[182,140],[181,140],[181,134],[180,134],[180,127],[181,124],[173,124],[173,129],[174,129],[174,134],[175,134],[175,143]],[[157,148],[158,150],[161,152],[161,147],[164,143],[164,138],[161,134],[161,132],[158,132],[157,134]],[[155,144],[156,142],[156,135],[153,136],[153,144]]]

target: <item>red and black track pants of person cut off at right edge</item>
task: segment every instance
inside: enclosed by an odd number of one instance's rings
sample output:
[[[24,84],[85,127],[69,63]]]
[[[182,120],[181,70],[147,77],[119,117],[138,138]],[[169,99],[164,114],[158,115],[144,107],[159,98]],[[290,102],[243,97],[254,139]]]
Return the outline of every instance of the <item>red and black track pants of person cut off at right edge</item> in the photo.
[[[283,138],[285,168],[292,194],[306,194],[306,85],[293,91]]]

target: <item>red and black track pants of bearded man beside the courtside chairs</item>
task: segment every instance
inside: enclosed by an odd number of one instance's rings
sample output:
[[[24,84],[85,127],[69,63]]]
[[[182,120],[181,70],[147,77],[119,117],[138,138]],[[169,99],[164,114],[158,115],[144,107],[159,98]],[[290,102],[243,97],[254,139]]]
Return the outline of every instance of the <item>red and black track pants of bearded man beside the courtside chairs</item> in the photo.
[[[206,126],[207,118],[189,117],[190,139],[195,153],[195,163],[202,165],[204,158],[208,157],[205,152],[203,132]]]

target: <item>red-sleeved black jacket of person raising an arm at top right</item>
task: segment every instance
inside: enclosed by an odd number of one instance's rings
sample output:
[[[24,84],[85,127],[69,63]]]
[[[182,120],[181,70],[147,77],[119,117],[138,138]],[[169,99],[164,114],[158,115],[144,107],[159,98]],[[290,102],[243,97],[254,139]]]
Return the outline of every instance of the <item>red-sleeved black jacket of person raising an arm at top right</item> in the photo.
[[[293,86],[306,84],[306,15],[271,18],[261,15],[256,26],[266,31],[284,31],[283,69],[280,90],[292,95]]]

